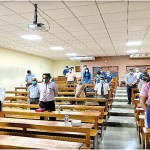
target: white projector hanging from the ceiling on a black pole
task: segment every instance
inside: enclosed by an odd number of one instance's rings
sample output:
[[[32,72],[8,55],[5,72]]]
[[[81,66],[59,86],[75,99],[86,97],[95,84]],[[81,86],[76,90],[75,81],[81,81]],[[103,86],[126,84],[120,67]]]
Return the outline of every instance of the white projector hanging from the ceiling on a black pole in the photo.
[[[37,22],[37,18],[38,18],[38,16],[37,16],[37,13],[38,13],[38,11],[37,11],[37,4],[34,4],[34,7],[35,7],[34,21],[33,21],[33,23],[29,23],[28,24],[28,28],[31,29],[31,30],[43,31],[43,30],[45,30],[44,24]]]

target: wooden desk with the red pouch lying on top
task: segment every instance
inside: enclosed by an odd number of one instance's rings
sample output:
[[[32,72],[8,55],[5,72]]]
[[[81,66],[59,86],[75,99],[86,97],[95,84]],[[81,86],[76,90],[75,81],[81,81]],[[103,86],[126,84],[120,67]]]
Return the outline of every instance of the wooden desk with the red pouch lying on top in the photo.
[[[2,116],[7,115],[21,115],[21,116],[43,116],[43,117],[58,117],[58,118],[64,118],[65,114],[69,115],[69,119],[80,119],[82,122],[89,120],[94,121],[94,128],[98,129],[98,118],[100,117],[100,112],[90,112],[90,111],[53,111],[53,112],[35,112],[34,110],[16,110],[16,109],[6,109],[4,108],[2,111]]]

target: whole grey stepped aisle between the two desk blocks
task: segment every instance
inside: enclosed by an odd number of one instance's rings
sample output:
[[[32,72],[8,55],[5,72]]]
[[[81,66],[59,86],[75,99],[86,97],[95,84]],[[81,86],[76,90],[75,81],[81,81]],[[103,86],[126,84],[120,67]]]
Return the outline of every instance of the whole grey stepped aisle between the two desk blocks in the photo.
[[[140,149],[136,131],[134,110],[127,104],[126,88],[118,87],[114,99],[112,114],[99,149]],[[121,116],[122,114],[124,116]],[[132,114],[132,116],[131,116]]]

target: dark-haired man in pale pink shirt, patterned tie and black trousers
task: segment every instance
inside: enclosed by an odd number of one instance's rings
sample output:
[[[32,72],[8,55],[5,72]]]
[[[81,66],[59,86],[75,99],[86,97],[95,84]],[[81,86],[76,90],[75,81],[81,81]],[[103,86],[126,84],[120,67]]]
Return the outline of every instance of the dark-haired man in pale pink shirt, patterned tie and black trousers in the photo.
[[[49,73],[43,74],[43,82],[40,84],[40,108],[45,108],[48,111],[55,111],[55,97],[58,96],[58,87],[55,82],[50,81]],[[44,120],[44,117],[40,117]],[[50,120],[55,121],[55,117],[50,117]]]

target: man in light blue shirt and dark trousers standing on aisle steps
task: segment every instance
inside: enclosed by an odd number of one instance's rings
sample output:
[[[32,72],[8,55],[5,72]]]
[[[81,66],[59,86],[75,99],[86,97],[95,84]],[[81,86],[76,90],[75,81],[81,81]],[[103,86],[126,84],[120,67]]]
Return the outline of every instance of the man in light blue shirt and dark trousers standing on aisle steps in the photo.
[[[129,73],[125,77],[128,94],[128,104],[131,104],[131,89],[136,87],[137,77],[133,73],[133,68],[129,69]]]

